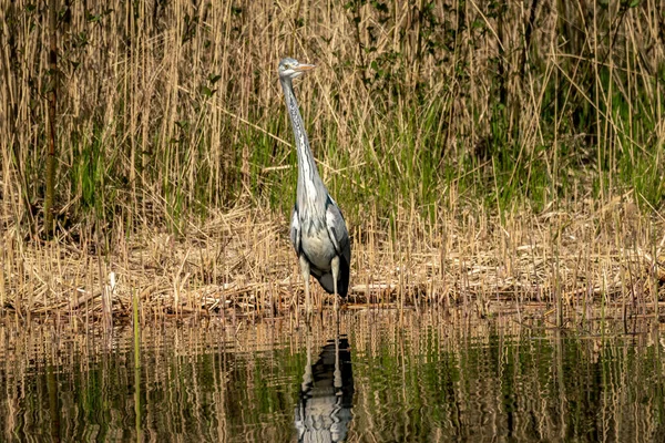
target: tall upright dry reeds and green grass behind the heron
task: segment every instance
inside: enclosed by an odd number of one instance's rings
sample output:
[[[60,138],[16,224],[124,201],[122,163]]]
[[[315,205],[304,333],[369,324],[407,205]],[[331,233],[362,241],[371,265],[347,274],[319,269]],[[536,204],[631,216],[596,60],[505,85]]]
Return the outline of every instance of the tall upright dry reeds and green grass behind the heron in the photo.
[[[57,68],[48,6],[0,10],[0,222],[16,253],[6,275],[20,261],[17,245],[50,230],[53,91],[54,231],[82,256],[125,254],[129,264],[127,243],[144,238],[133,233],[183,238],[245,203],[287,215],[297,171],[276,75],[285,55],[318,65],[296,94],[356,241],[381,233],[378,241],[398,241],[386,244],[398,264],[431,248],[443,276],[453,257],[439,250],[460,245],[456,231],[471,255],[493,238],[504,261],[516,260],[515,238],[560,239],[560,212],[580,208],[598,224],[583,234],[584,257],[608,256],[594,249],[595,234],[611,238],[626,205],[648,215],[665,200],[662,1],[57,6]],[[552,222],[549,233],[533,214]],[[492,217],[511,238],[492,231]],[[658,227],[631,229],[642,241],[634,250],[659,241]],[[543,254],[556,256],[555,246]],[[175,266],[185,274],[188,254]],[[216,277],[203,276],[205,264]],[[202,258],[192,275],[218,282],[229,268],[217,264]],[[94,274],[102,287],[106,269]]]

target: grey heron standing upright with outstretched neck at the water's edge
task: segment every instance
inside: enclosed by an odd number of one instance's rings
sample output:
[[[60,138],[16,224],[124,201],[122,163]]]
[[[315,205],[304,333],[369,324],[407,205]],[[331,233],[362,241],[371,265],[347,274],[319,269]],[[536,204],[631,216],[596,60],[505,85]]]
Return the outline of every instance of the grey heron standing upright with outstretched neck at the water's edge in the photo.
[[[279,62],[279,83],[298,155],[298,184],[296,204],[291,212],[290,240],[305,280],[305,307],[308,316],[313,311],[309,276],[313,275],[328,293],[335,296],[335,311],[338,311],[337,296],[347,296],[351,262],[351,246],[344,216],[318,174],[294,94],[293,80],[314,68],[314,64],[300,63],[290,58]]]

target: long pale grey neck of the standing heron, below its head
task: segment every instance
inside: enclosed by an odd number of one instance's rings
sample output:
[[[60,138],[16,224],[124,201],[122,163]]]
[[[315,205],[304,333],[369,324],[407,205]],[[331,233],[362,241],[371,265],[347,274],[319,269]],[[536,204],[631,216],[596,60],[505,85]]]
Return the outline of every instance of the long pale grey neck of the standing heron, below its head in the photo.
[[[279,81],[284,90],[286,109],[290,117],[291,128],[294,130],[294,137],[296,138],[296,152],[298,154],[298,206],[306,206],[306,203],[300,200],[301,198],[307,198],[310,202],[323,200],[325,203],[326,187],[318,174],[314,155],[309,148],[309,140],[298,109],[298,101],[294,94],[291,81],[290,79],[279,79]]]

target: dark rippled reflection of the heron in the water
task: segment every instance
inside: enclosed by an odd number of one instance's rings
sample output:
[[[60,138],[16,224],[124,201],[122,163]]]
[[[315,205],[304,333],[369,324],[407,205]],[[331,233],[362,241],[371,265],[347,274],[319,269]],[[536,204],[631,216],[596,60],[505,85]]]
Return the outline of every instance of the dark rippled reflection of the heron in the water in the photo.
[[[307,338],[307,367],[296,406],[299,442],[342,442],[351,422],[354,372],[349,341],[341,336],[321,349],[311,364],[311,338]]]

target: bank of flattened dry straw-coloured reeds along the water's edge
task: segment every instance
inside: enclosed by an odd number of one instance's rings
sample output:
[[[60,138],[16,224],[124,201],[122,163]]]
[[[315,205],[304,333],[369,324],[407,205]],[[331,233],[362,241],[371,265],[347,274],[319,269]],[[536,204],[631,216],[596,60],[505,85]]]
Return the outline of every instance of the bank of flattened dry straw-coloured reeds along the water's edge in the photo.
[[[540,303],[561,320],[592,307],[654,313],[665,292],[665,223],[628,197],[574,212],[502,214],[504,222],[482,209],[432,222],[403,209],[389,229],[371,217],[350,225],[348,308],[466,306],[491,315],[493,301],[508,301],[518,309]],[[180,235],[145,228],[41,243],[9,229],[1,240],[2,313],[126,317],[134,295],[145,318],[296,311],[303,281],[287,226],[280,214],[238,206],[188,223]],[[314,287],[317,309],[331,309],[331,297]]]

